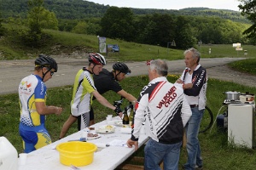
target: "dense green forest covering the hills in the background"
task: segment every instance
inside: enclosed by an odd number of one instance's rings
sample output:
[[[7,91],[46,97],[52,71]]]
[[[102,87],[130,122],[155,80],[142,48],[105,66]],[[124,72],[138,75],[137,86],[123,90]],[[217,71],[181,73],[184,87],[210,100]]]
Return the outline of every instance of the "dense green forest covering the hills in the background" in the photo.
[[[45,37],[42,28],[162,47],[175,41],[175,48],[198,43],[254,44],[242,34],[250,26],[248,20],[224,9],[118,8],[82,0],[0,0],[0,9],[3,23],[29,27],[29,32],[22,30],[18,35],[32,44]]]

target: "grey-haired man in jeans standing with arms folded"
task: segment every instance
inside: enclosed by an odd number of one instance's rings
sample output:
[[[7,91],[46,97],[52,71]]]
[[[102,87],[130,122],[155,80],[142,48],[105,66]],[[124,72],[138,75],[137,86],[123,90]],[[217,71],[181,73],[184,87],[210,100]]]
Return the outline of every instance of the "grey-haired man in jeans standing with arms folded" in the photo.
[[[183,85],[192,116],[186,126],[188,161],[183,169],[202,169],[201,147],[198,133],[202,116],[207,105],[207,70],[199,64],[201,54],[195,48],[184,51],[186,68],[177,83]]]

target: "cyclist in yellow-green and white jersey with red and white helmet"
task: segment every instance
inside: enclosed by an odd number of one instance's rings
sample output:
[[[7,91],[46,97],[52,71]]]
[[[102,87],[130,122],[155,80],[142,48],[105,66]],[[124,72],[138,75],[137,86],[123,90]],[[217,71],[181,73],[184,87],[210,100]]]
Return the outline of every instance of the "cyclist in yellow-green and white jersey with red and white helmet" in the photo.
[[[122,111],[118,107],[111,105],[107,99],[99,94],[94,85],[93,75],[98,75],[102,71],[103,65],[106,65],[106,60],[102,54],[90,53],[89,66],[84,67],[77,73],[73,85],[71,115],[61,128],[60,139],[66,135],[69,127],[77,121],[78,116],[82,115],[82,128],[89,126],[90,106],[92,105],[93,96],[100,104],[112,109],[117,115],[122,116]]]

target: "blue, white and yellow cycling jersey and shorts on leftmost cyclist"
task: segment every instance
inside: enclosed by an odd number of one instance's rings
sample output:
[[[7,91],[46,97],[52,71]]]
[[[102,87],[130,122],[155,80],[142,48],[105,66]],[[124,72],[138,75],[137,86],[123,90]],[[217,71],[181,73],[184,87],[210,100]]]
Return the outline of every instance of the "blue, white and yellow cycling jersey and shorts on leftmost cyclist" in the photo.
[[[20,126],[19,133],[23,140],[25,153],[51,143],[49,133],[44,127],[45,116],[39,115],[35,102],[46,101],[46,86],[42,78],[30,75],[21,80],[19,85]]]

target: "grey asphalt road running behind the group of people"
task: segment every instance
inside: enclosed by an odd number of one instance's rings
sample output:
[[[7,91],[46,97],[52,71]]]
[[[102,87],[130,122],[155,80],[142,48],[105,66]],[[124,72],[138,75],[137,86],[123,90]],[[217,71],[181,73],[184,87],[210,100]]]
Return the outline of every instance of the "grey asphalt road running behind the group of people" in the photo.
[[[214,59],[201,59],[201,65],[207,69],[216,68],[222,65],[226,65],[235,60],[244,58],[214,58]],[[88,65],[87,59],[82,58],[56,58],[59,70],[54,76],[46,82],[47,88],[60,87],[65,85],[73,85],[74,77],[83,66]],[[184,60],[168,61],[169,73],[181,74],[184,69]],[[126,62],[126,65],[131,69],[132,76],[147,75],[148,67],[146,62]],[[112,69],[113,62],[108,62],[104,67],[110,71]],[[18,92],[18,86],[20,80],[23,77],[30,75],[33,72],[34,59],[22,59],[22,60],[3,60],[0,61],[0,94],[14,94]],[[212,73],[211,73],[212,72]],[[211,77],[215,71],[208,71],[208,77]],[[224,75],[218,75],[218,77],[224,77]]]

